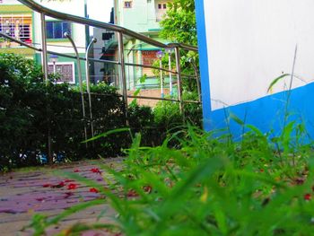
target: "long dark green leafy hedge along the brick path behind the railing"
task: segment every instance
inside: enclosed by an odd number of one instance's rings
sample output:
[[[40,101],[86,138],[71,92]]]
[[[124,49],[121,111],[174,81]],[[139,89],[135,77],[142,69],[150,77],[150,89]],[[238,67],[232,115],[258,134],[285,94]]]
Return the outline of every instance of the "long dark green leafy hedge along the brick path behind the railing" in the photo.
[[[132,142],[126,132],[82,143],[84,128],[92,138],[91,125],[96,136],[126,127],[124,102],[116,89],[100,83],[92,85],[91,91],[92,122],[87,94],[83,119],[78,87],[44,83],[40,67],[31,60],[0,55],[0,170],[123,154]],[[170,128],[182,125],[178,104],[174,103],[161,103],[154,111],[132,105],[128,113],[132,132],[141,132],[143,144],[148,146],[161,144]],[[194,111],[191,117],[196,117]],[[52,160],[48,160],[48,140]]]

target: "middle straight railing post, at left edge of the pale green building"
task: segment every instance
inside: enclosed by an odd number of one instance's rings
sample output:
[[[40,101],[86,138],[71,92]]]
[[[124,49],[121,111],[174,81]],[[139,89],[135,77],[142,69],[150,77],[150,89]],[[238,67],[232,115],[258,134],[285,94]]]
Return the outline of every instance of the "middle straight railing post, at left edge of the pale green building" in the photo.
[[[125,116],[126,116],[126,126],[129,125],[128,114],[127,114],[127,92],[126,92],[126,65],[125,65],[125,54],[123,45],[123,33],[118,32],[118,55],[120,62],[120,76],[122,81],[122,96],[125,102]]]

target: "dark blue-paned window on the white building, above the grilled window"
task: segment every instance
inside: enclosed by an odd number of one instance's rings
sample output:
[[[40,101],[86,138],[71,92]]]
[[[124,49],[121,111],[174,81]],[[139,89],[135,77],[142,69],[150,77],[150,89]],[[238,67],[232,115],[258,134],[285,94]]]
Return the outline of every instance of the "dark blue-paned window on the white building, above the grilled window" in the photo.
[[[65,32],[71,33],[70,22],[47,22],[47,39],[65,39]]]

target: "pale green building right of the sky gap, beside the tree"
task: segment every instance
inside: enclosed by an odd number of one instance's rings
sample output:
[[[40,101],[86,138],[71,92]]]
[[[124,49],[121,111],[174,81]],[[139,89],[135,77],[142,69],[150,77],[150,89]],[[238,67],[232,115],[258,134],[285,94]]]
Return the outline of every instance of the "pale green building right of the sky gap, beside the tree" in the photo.
[[[131,31],[144,34],[147,37],[168,43],[167,40],[159,37],[161,31],[160,21],[167,11],[168,3],[171,1],[160,0],[114,0],[115,16],[114,22]],[[125,58],[127,63],[144,64],[152,66],[158,59],[157,52],[161,48],[153,47],[138,39],[126,37]],[[144,82],[141,78],[147,75]],[[126,66],[127,87],[129,90],[136,88],[159,87],[159,78],[153,74],[153,70],[144,67]],[[167,78],[165,80],[167,82]]]

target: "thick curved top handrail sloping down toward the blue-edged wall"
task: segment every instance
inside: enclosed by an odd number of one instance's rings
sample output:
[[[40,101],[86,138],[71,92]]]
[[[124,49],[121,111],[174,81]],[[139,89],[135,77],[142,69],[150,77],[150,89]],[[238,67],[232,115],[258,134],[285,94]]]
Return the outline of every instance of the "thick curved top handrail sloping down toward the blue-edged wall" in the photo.
[[[182,49],[188,49],[188,50],[193,50],[193,51],[197,51],[198,48],[194,47],[194,46],[188,46],[185,44],[173,44],[171,43],[170,45],[167,44],[163,44],[159,41],[156,41],[154,39],[148,38],[146,36],[144,36],[143,34],[137,33],[135,31],[130,31],[124,27],[115,25],[115,24],[110,24],[110,23],[105,23],[105,22],[99,22],[99,21],[95,21],[95,20],[91,20],[91,19],[87,19],[81,16],[76,16],[73,14],[67,14],[67,13],[60,13],[57,11],[54,11],[52,9],[49,9],[47,7],[42,6],[41,4],[37,4],[32,0],[18,0],[19,2],[21,2],[22,4],[25,4],[26,6],[30,7],[32,10],[34,10],[35,12],[38,13],[44,13],[47,16],[53,17],[53,18],[58,18],[58,19],[62,19],[64,21],[69,21],[69,22],[76,22],[76,23],[82,23],[85,25],[89,25],[89,26],[93,26],[93,27],[97,27],[103,30],[109,30],[109,31],[118,31],[118,32],[122,32],[123,34],[126,34],[128,36],[134,37],[136,39],[142,40],[144,42],[147,42],[155,47],[159,47],[159,48],[171,48],[171,47],[179,47]]]

